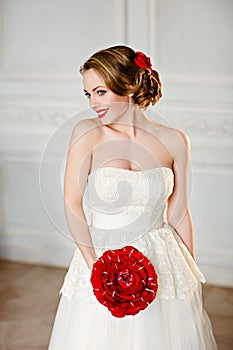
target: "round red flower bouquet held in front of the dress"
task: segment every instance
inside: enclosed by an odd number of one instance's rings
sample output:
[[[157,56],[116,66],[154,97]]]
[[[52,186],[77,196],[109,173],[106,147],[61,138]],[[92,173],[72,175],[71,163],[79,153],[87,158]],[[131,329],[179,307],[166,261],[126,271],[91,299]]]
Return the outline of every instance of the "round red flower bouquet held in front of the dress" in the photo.
[[[105,251],[91,273],[97,300],[115,317],[144,310],[155,299],[157,280],[150,260],[132,246]]]

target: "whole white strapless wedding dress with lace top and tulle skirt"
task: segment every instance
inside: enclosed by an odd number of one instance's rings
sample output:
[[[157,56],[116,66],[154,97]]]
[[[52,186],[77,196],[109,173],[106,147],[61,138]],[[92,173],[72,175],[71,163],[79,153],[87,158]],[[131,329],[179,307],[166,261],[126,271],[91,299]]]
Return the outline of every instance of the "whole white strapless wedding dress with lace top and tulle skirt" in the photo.
[[[89,231],[96,252],[136,247],[158,275],[154,301],[116,318],[95,298],[91,271],[75,250],[60,290],[49,350],[216,350],[202,304],[205,278],[172,226],[164,221],[174,174],[166,167],[132,171],[103,167],[88,176]]]

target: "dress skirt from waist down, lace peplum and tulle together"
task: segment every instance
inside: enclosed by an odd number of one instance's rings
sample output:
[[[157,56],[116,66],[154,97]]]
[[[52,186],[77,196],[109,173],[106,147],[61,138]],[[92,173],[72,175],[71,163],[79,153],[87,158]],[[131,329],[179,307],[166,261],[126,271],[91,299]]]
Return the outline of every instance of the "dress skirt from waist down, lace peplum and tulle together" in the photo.
[[[95,298],[77,248],[60,290],[49,350],[217,349],[202,302],[204,276],[172,227],[148,232],[135,246],[156,267],[153,302],[135,316],[114,317]]]

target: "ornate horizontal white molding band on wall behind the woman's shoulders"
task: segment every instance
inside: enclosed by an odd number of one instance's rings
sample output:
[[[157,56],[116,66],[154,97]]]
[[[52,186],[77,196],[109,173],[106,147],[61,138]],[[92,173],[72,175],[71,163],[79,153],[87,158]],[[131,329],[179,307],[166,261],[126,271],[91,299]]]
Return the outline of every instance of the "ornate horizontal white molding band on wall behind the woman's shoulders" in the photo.
[[[1,106],[0,105],[0,123],[2,125],[2,133],[14,131],[17,127],[17,132],[25,132],[25,128],[28,133],[35,133],[35,127],[38,132],[45,130],[51,130],[67,118],[72,117],[75,113],[82,114],[82,111],[87,111],[87,105],[84,103],[61,104],[58,106],[53,102],[53,105],[46,106],[46,100],[42,102],[42,107],[38,105],[38,102],[34,105],[25,103],[15,106]],[[170,121],[174,127],[183,129],[190,135],[202,136],[218,136],[228,137],[233,136],[233,110],[224,109],[211,109],[203,108],[197,109],[195,106],[191,107],[168,107],[162,106],[160,108],[153,108],[155,112],[161,113],[164,117]],[[93,112],[90,110],[90,118],[94,117]]]

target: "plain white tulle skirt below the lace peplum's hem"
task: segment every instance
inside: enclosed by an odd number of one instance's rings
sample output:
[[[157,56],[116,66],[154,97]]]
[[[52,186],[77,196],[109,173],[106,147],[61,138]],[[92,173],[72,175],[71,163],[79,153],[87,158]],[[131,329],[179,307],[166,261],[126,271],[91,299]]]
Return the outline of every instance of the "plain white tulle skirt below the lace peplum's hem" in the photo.
[[[137,316],[116,318],[98,301],[61,296],[49,350],[215,350],[201,285],[185,299],[158,299]]]

